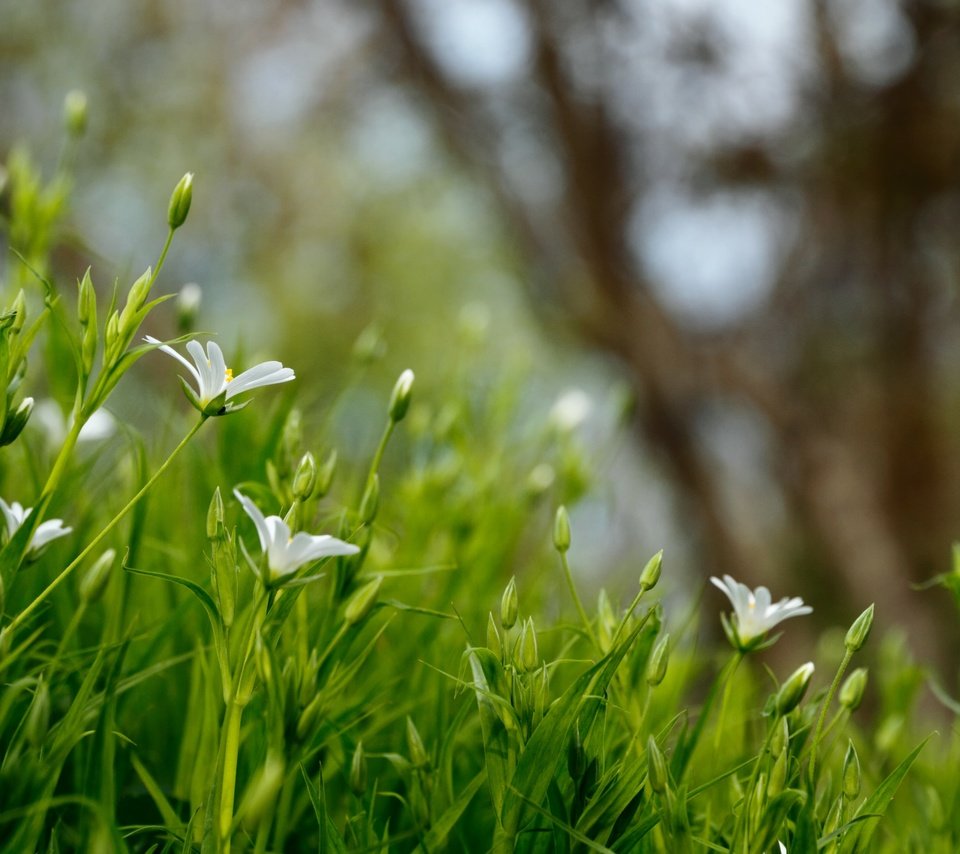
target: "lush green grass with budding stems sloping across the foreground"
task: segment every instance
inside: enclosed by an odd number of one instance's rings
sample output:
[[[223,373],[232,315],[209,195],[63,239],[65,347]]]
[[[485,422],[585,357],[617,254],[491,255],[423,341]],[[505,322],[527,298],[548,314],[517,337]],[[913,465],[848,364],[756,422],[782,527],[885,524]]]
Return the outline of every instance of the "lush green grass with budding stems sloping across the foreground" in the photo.
[[[522,376],[458,365],[418,399],[404,374],[349,453],[307,372],[243,411],[183,399],[143,335],[174,325],[154,291],[192,187],[153,270],[75,287],[50,261],[68,176],[21,152],[8,177],[0,497],[34,510],[0,551],[0,851],[960,847],[954,719],[916,711],[925,673],[872,609],[791,674],[763,649],[790,623],[725,618],[728,644],[666,613],[669,557],[584,601],[558,506],[589,461],[516,422]],[[87,440],[124,390],[159,429]],[[24,426],[26,396],[72,426]],[[518,475],[543,463],[549,486]],[[271,569],[235,488],[357,550]]]

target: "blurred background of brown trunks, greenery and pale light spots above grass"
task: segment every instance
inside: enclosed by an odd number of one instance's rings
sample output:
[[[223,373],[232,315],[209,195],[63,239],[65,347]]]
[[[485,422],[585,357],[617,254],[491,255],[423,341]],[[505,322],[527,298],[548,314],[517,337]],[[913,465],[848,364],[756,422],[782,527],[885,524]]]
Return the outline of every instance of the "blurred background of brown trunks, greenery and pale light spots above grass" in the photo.
[[[317,407],[349,386],[338,441],[375,441],[406,367],[438,409],[454,378],[514,383],[510,424],[559,420],[589,461],[588,585],[663,546],[691,590],[729,572],[822,624],[876,600],[956,665],[949,603],[912,586],[960,533],[956,3],[0,0],[0,21],[0,153],[53,164],[64,94],[89,98],[64,270],[130,280],[194,171],[163,288],[199,283],[199,326],[294,365]]]

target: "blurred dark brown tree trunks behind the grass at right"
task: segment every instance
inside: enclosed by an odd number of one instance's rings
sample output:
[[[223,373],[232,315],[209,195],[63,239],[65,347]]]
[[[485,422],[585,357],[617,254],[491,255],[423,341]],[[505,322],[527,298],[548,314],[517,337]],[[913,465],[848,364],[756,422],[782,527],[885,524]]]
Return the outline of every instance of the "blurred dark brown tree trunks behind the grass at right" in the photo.
[[[638,435],[696,523],[705,573],[754,584],[772,576],[775,594],[813,598],[840,621],[876,601],[881,621],[905,624],[918,653],[955,663],[947,597],[913,593],[909,584],[945,568],[960,532],[950,371],[951,286],[960,269],[957,7],[901,4],[913,60],[892,82],[870,86],[851,76],[842,56],[831,23],[838,4],[811,0],[815,72],[793,125],[769,138],[704,146],[684,165],[692,186],[800,200],[797,235],[769,297],[715,331],[672,314],[629,246],[656,140],[624,117],[613,84],[604,83],[624,85],[610,34],[636,25],[636,10],[615,0],[518,6],[531,59],[526,79],[508,92],[458,82],[408,0],[381,5],[383,55],[389,73],[422,94],[449,149],[494,194],[514,229],[535,310],[562,318],[624,366],[639,404]],[[709,30],[686,35],[692,61],[722,60]],[[594,69],[589,85],[584,67]],[[597,68],[606,70],[599,84]],[[496,152],[510,116],[533,125],[559,162],[558,205],[530,202],[501,168]],[[771,439],[770,474],[789,524],[770,531],[763,547],[733,523],[728,484],[705,446],[703,412],[717,403],[748,407]]]

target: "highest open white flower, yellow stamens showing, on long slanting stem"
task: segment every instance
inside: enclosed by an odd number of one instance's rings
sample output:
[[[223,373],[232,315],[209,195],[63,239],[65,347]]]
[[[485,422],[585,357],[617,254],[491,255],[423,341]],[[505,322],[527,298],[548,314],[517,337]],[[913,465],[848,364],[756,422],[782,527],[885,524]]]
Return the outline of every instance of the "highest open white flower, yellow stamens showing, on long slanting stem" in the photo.
[[[266,385],[290,382],[295,378],[291,368],[285,368],[280,362],[261,362],[234,377],[233,371],[227,367],[223,358],[223,351],[215,341],[207,342],[207,352],[198,341],[187,342],[187,352],[193,357],[191,365],[173,347],[161,344],[156,338],[148,335],[145,339],[149,344],[157,344],[174,359],[184,365],[197,382],[196,390],[190,388],[186,382],[183,390],[187,393],[190,402],[204,415],[225,415],[240,409],[241,406],[228,406],[227,402],[238,394],[252,391]]]

